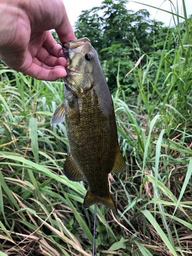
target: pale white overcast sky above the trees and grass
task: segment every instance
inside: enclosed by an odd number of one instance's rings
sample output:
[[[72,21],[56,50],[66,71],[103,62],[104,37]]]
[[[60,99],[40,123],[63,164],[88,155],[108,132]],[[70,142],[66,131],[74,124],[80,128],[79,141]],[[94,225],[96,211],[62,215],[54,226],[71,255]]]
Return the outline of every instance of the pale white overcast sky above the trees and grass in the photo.
[[[66,7],[68,17],[72,26],[74,26],[74,23],[77,21],[77,18],[81,14],[82,10],[88,10],[88,9],[91,9],[92,7],[101,6],[101,2],[102,0],[70,0],[70,1],[63,0],[63,3]],[[157,12],[157,9],[155,8],[142,5],[142,4],[151,5],[167,11],[171,11],[170,2],[168,0],[165,0],[165,1],[137,0],[137,2],[141,4],[134,3],[134,1],[129,1],[129,3],[126,4],[126,8],[134,11],[138,11],[140,9],[147,9],[151,14],[150,16],[151,19],[155,18],[161,22],[164,22],[165,25],[167,26],[169,25],[169,22],[172,16],[171,14],[168,14],[163,11]],[[172,0],[172,3],[175,5],[175,7],[177,7],[177,0]],[[192,14],[192,0],[185,0],[185,6],[186,6],[187,15]],[[178,7],[179,7],[180,15],[183,16],[182,0],[178,0]],[[172,18],[171,25],[174,25],[173,18]]]

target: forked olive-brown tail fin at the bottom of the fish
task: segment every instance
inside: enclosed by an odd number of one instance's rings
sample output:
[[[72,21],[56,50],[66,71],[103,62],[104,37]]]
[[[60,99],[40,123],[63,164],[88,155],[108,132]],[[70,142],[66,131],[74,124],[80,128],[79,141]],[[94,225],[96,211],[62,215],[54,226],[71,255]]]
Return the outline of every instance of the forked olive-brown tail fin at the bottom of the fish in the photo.
[[[113,198],[109,190],[105,197],[98,197],[91,194],[90,189],[88,189],[86,197],[84,198],[84,202],[83,202],[84,208],[88,209],[91,205],[97,204],[97,203],[104,204],[106,207],[109,207],[110,209],[112,209],[116,215],[118,215],[117,208],[115,206],[115,203],[113,201]]]

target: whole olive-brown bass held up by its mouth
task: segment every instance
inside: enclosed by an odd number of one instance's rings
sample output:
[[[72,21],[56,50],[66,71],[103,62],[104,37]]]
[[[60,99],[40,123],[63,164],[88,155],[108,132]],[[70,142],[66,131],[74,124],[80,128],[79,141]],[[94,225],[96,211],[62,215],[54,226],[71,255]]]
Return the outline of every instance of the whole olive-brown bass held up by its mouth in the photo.
[[[67,58],[63,77],[63,103],[51,124],[65,119],[69,142],[63,173],[71,181],[87,180],[84,208],[101,203],[117,215],[108,187],[108,175],[120,173],[126,164],[120,151],[115,110],[98,54],[87,37],[61,44]]]

